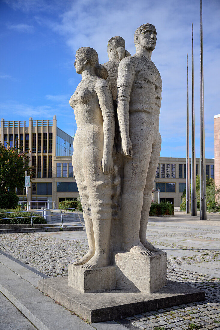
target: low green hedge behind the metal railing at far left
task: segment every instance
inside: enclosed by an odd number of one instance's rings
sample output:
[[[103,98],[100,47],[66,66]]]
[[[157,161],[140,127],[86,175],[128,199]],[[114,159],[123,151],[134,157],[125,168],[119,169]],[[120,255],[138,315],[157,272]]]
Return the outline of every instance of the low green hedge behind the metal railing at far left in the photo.
[[[0,213],[3,212],[18,212],[19,209],[0,209]],[[32,213],[32,215],[37,215]],[[21,218],[22,216],[28,216],[28,218]],[[19,213],[7,213],[0,214],[0,224],[31,224],[30,212],[19,212]],[[13,218],[13,219],[8,219]],[[16,219],[18,218],[18,219]],[[37,216],[32,218],[33,224],[47,224],[47,221],[43,216]]]

